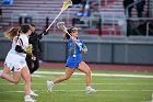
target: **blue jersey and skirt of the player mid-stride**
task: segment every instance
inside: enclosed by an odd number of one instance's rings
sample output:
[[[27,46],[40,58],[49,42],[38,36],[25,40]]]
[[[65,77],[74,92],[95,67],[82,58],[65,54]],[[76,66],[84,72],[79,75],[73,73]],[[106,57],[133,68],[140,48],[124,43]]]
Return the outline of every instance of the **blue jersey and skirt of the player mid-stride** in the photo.
[[[78,68],[79,64],[83,61],[82,59],[82,49],[79,45],[84,48],[85,44],[81,39],[76,39],[76,43],[72,42],[72,38],[68,41],[68,49],[69,49],[69,57],[67,59],[66,67],[70,68]]]

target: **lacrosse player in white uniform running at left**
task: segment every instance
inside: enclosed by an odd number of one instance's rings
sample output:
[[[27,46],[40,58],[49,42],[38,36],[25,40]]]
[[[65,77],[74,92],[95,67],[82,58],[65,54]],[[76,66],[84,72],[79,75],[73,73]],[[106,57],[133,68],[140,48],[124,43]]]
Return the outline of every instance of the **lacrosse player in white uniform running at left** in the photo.
[[[31,35],[31,26],[22,25],[21,34],[17,34],[16,29],[11,29],[5,33],[5,36],[12,41],[12,47],[4,60],[4,68],[1,77],[12,83],[17,84],[21,77],[24,80],[25,102],[35,102],[31,95],[31,73],[25,61],[26,54],[32,53],[32,46],[28,45],[28,35]],[[10,75],[10,70],[13,70],[13,77]]]

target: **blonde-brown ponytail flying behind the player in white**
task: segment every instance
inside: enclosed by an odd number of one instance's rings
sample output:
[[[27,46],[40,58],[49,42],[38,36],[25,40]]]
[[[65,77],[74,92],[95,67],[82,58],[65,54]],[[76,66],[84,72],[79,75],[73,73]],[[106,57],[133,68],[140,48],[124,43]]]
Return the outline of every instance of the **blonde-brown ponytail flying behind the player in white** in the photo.
[[[8,30],[7,32],[4,32],[4,36],[10,39],[13,41],[13,38],[19,35],[19,31],[20,27],[11,27],[10,30]]]

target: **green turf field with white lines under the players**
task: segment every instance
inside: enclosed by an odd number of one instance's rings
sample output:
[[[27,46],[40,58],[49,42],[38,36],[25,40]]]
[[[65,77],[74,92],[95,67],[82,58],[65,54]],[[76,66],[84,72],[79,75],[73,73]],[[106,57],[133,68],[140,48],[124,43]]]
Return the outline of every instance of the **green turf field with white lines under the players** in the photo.
[[[37,102],[151,102],[153,72],[93,70],[92,87],[96,93],[85,93],[85,77],[80,71],[47,92],[46,80],[62,75],[64,69],[40,68],[32,77]],[[19,86],[0,79],[0,102],[23,102],[23,81]]]

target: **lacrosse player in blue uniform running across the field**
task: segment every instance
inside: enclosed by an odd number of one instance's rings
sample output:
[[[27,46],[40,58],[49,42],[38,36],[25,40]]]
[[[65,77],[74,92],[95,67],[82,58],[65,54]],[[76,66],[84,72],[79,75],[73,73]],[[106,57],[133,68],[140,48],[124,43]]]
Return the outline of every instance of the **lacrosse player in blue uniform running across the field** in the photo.
[[[66,34],[63,38],[68,39],[68,49],[70,50],[70,55],[66,63],[66,73],[63,76],[56,78],[52,81],[47,80],[47,88],[51,92],[52,87],[56,83],[68,80],[72,76],[74,70],[79,69],[80,71],[86,75],[86,93],[96,92],[93,88],[91,88],[91,79],[92,79],[91,69],[82,59],[82,53],[86,53],[87,48],[83,43],[83,41],[78,38],[79,33],[76,27],[69,29],[68,33],[69,34]]]

